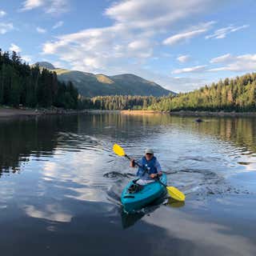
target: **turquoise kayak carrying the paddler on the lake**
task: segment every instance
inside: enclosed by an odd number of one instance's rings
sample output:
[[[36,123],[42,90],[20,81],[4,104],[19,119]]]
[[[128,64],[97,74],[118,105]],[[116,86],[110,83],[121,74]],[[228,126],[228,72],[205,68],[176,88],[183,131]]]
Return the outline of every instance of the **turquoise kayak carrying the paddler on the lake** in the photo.
[[[166,174],[162,174],[160,181],[166,184]],[[126,188],[122,191],[121,202],[123,210],[130,214],[136,210],[142,209],[144,206],[149,205],[154,200],[160,198],[163,194],[166,194],[166,187],[160,184],[160,182],[150,182],[142,187],[136,193],[130,193],[129,188],[134,182],[129,182]]]

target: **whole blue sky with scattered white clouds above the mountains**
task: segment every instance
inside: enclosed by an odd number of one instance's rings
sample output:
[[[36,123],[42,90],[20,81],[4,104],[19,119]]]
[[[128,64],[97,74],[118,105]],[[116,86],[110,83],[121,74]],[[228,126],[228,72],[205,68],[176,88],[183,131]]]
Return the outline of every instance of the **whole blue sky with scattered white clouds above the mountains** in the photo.
[[[254,0],[0,1],[0,47],[30,64],[137,74],[185,92],[256,70]]]

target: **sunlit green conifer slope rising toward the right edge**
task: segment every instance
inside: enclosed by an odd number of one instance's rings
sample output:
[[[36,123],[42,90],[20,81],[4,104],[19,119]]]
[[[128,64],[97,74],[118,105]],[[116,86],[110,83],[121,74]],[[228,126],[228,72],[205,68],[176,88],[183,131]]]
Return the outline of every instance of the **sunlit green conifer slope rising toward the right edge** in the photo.
[[[176,97],[164,97],[151,110],[255,111],[256,73],[212,83]]]

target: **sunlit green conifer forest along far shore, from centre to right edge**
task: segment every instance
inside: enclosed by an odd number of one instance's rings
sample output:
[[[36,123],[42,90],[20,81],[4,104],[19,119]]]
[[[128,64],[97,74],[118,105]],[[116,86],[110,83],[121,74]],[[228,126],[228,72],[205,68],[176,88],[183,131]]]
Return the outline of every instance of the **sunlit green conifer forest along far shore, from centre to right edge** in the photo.
[[[99,110],[255,111],[256,73],[226,78],[185,94],[153,96],[98,96],[82,98],[80,108]]]

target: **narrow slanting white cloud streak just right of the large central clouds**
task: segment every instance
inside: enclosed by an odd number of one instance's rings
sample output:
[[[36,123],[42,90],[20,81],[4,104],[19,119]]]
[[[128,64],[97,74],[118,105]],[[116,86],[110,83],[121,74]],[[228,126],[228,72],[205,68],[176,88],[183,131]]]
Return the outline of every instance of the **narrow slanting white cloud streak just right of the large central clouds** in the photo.
[[[182,33],[179,34],[174,34],[170,36],[170,38],[166,38],[162,43],[164,45],[169,45],[172,46],[178,42],[184,42],[184,41],[189,41],[191,38],[194,38],[198,36],[199,34],[206,33],[206,31],[210,30],[211,26],[215,22],[206,22],[202,23],[198,26],[194,26],[190,28],[190,30],[186,30]]]

